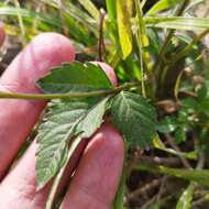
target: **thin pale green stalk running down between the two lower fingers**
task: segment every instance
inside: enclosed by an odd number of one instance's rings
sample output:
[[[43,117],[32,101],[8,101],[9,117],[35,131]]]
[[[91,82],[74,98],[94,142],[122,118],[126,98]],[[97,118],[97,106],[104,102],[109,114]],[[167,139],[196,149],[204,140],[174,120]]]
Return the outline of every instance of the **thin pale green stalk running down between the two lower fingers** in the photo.
[[[48,196],[48,198],[47,198],[47,202],[46,202],[45,209],[52,209],[53,202],[54,202],[54,199],[55,199],[55,196],[56,196],[56,191],[57,191],[57,188],[58,188],[59,183],[61,183],[61,180],[62,180],[62,177],[63,177],[63,175],[64,175],[64,172],[65,172],[65,169],[66,169],[66,167],[67,167],[67,164],[68,164],[68,162],[69,162],[72,155],[74,154],[76,147],[77,147],[78,144],[81,142],[81,140],[82,140],[81,138],[76,138],[76,139],[74,140],[74,142],[72,143],[70,148],[69,148],[69,151],[68,151],[68,153],[67,153],[67,158],[66,158],[66,161],[65,161],[65,164],[64,164],[63,167],[59,169],[57,176],[56,176],[55,179],[54,179],[54,183],[53,183],[53,186],[52,186],[50,196]]]

